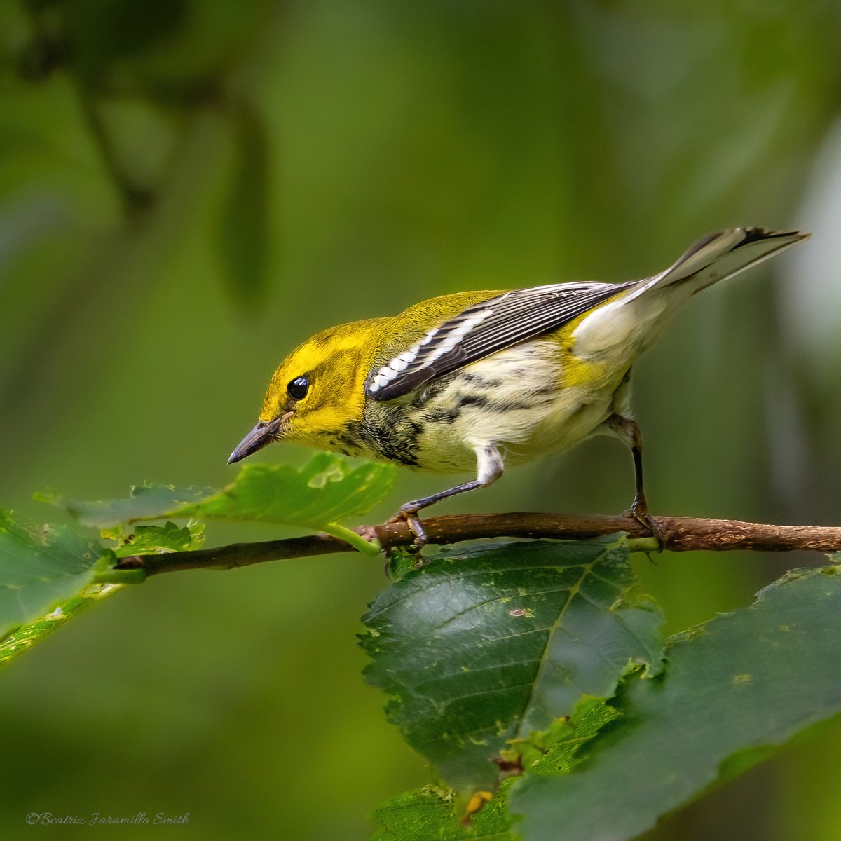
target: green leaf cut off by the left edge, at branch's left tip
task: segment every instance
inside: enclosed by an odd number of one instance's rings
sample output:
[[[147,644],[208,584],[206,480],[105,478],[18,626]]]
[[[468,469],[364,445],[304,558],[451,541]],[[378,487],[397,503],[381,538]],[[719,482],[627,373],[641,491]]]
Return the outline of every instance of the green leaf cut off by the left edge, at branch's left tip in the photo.
[[[0,509],[0,637],[81,593],[109,556],[75,529],[16,521]]]

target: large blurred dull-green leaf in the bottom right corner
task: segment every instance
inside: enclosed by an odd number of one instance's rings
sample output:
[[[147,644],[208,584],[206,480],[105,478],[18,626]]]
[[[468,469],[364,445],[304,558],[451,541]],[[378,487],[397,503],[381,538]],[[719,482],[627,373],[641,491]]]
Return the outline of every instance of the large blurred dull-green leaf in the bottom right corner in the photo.
[[[657,680],[632,675],[621,719],[572,774],[526,775],[510,810],[526,841],[624,841],[841,712],[841,569],[786,575],[754,605],[669,640]],[[547,754],[547,759],[551,756]]]

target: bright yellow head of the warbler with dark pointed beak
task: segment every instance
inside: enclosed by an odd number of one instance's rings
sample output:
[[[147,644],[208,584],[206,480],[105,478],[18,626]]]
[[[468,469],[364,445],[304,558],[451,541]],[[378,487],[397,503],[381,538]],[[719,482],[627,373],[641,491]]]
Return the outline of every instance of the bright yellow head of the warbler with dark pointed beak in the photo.
[[[337,436],[362,420],[365,378],[389,320],[332,327],[296,347],[272,375],[257,426],[228,463],[280,440],[334,449]]]

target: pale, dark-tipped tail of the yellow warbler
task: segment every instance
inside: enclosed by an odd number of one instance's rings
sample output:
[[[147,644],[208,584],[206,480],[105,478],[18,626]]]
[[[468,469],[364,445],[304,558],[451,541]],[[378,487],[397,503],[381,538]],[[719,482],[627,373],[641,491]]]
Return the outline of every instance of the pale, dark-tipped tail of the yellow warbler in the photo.
[[[625,301],[631,301],[651,289],[686,283],[690,294],[700,292],[713,283],[795,245],[807,240],[809,234],[799,230],[775,231],[764,228],[731,228],[717,234],[705,236],[685,251],[680,259],[664,272],[639,283],[627,294]]]

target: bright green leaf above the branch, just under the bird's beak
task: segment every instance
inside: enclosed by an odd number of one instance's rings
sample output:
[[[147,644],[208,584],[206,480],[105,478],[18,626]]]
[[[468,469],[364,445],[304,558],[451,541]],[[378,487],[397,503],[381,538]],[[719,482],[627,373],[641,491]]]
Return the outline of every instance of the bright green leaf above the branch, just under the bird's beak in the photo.
[[[41,499],[61,505],[80,521],[100,528],[163,517],[214,517],[325,528],[371,510],[394,482],[390,464],[344,459],[320,452],[304,467],[246,464],[225,489],[175,489],[161,484],[133,488],[125,500],[79,502]]]

